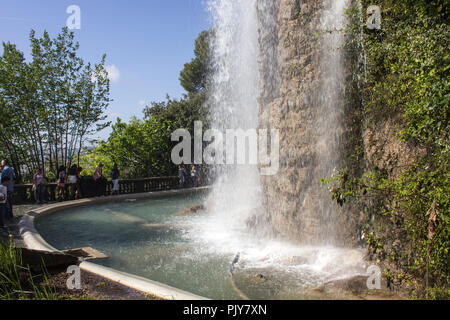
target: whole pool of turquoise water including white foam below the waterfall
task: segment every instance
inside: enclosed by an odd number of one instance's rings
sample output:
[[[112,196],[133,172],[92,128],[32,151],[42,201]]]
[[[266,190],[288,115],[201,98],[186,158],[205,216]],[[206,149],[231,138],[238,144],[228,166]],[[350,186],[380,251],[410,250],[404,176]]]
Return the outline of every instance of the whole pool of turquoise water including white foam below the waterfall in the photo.
[[[257,237],[214,213],[179,214],[204,200],[98,204],[41,217],[36,228],[57,249],[92,247],[109,257],[96,263],[211,299],[308,299],[308,290],[326,281],[365,273],[359,250],[299,247]]]

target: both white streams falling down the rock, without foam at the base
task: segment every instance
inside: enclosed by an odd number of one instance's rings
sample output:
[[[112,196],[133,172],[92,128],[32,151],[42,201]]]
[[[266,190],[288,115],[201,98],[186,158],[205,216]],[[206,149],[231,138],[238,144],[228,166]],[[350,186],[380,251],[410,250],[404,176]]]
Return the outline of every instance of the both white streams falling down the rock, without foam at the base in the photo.
[[[322,31],[320,48],[316,53],[319,85],[312,103],[313,121],[306,128],[306,142],[315,160],[308,169],[308,179],[302,182],[297,195],[304,199],[297,207],[299,212],[291,213],[300,217],[302,232],[312,235],[310,239],[313,241],[308,244],[333,244],[339,229],[335,220],[338,216],[336,208],[319,181],[331,176],[333,169],[341,164],[346,70],[341,48],[344,36],[337,30],[343,27],[348,2],[324,0],[319,16],[318,28]],[[208,101],[213,128],[222,132],[226,129],[258,128],[261,125],[261,108],[280,94],[281,76],[277,66],[283,62],[278,61],[277,56],[278,5],[279,2],[271,0],[209,2],[214,23],[211,40],[214,73]],[[298,10],[301,10],[301,5]],[[266,127],[272,125],[270,120],[263,124]],[[285,140],[289,139],[289,136],[285,137]],[[289,153],[289,146],[287,149]],[[244,228],[248,218],[255,213],[264,215],[261,201],[264,194],[261,194],[257,166],[223,165],[217,168],[216,174],[217,181],[209,207],[214,212],[216,225],[225,234]],[[278,178],[271,177],[273,180]],[[281,207],[289,205],[280,202]],[[271,212],[271,215],[273,217],[276,212]],[[292,228],[295,229],[295,226]],[[253,236],[254,233],[255,230]]]

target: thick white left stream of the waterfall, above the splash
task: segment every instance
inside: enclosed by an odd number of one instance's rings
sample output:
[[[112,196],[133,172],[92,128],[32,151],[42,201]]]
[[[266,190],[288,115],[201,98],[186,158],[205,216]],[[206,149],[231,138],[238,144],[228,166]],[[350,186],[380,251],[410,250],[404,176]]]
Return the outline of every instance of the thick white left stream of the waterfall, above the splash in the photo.
[[[208,104],[211,127],[258,127],[258,17],[256,0],[213,0],[214,22],[211,91]],[[210,206],[217,224],[228,230],[246,225],[250,212],[260,207],[260,180],[256,165],[221,165]]]

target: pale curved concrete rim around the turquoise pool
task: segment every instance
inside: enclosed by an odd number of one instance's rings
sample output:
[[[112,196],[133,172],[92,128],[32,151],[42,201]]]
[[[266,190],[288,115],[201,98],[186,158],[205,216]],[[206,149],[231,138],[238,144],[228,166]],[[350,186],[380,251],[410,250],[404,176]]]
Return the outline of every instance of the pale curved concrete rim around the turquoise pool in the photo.
[[[110,201],[123,201],[129,199],[159,198],[167,195],[190,194],[208,190],[209,187],[194,189],[156,191],[137,194],[126,194],[119,196],[81,199],[67,202],[60,202],[43,206],[39,209],[31,210],[25,214],[19,222],[20,235],[26,247],[31,250],[59,252],[56,248],[48,244],[39,234],[35,227],[35,219],[44,215],[59,212],[65,209],[88,206],[92,204],[106,203]],[[134,290],[153,295],[164,300],[209,300],[208,298],[195,295],[193,293],[170,287],[166,284],[139,277],[112,268],[104,267],[92,262],[81,262],[80,269],[97,274],[121,285]]]

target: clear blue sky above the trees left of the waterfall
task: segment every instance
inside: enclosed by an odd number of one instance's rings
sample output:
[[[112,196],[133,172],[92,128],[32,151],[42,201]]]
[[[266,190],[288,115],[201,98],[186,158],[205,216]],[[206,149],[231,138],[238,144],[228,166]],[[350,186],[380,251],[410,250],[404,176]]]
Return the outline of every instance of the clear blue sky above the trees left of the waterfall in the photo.
[[[144,104],[180,97],[183,65],[193,58],[194,41],[211,20],[206,0],[0,0],[0,42],[15,43],[29,57],[29,32],[55,37],[66,25],[70,5],[81,9],[74,30],[79,54],[97,63],[104,53],[113,68],[111,119],[142,117]],[[101,134],[107,135],[107,131]]]

